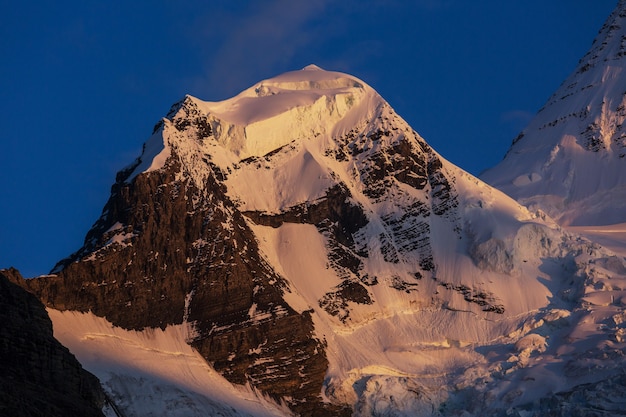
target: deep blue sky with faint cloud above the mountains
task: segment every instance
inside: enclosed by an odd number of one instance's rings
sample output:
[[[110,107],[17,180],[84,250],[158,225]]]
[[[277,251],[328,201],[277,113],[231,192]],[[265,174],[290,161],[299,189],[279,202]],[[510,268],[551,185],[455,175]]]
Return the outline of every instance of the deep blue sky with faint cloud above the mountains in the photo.
[[[374,87],[478,174],[590,47],[616,0],[29,1],[0,14],[0,268],[82,245],[115,173],[184,94],[315,63]]]

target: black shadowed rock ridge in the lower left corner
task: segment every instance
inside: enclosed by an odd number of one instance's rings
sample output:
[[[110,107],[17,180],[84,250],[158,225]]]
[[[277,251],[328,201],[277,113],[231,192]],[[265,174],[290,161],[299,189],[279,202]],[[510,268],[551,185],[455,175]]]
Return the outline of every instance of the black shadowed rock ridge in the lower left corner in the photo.
[[[0,415],[103,416],[104,392],[52,335],[44,306],[0,270]]]

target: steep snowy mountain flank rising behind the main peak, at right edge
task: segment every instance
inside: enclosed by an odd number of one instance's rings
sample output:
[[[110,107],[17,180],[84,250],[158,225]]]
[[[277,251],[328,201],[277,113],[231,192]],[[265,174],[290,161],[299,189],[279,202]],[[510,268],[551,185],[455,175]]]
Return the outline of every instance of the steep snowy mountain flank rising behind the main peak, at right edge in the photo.
[[[563,225],[626,222],[626,1],[481,178]]]

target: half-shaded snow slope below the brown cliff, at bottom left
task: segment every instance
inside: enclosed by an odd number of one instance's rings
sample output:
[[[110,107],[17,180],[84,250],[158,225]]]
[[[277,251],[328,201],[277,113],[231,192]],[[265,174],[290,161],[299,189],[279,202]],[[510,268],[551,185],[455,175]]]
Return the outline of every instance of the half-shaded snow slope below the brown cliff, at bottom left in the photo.
[[[184,326],[129,331],[92,313],[48,309],[54,337],[96,375],[124,416],[280,416],[285,409],[234,387],[185,341]]]

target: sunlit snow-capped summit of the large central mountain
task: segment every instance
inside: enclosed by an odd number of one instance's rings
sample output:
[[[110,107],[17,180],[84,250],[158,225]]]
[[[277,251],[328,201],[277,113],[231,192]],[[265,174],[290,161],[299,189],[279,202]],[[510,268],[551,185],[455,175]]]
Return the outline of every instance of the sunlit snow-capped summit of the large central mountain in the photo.
[[[162,167],[172,148],[179,155],[211,153],[228,165],[294,141],[330,140],[371,120],[383,103],[358,78],[314,65],[263,80],[219,102],[187,95],[157,125],[129,180]],[[189,142],[190,136],[181,134],[190,128],[197,131],[191,137],[202,140]],[[213,151],[215,146],[220,150]]]

